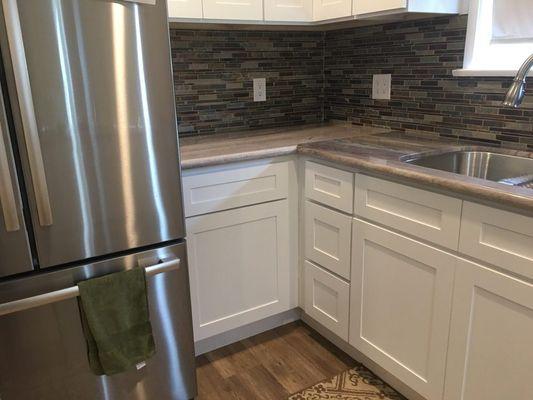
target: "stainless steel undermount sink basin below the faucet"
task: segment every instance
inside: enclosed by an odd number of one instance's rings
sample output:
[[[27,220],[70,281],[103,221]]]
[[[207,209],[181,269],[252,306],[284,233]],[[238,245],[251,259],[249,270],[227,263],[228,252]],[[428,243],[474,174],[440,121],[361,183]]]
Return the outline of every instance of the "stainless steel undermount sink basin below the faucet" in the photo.
[[[419,155],[403,161],[421,167],[533,189],[533,158],[490,151],[453,151]]]

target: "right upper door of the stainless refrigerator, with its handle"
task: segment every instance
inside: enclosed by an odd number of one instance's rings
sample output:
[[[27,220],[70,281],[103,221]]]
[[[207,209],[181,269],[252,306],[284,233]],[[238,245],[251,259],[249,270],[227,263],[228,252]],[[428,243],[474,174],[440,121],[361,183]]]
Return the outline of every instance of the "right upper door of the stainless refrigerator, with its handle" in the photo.
[[[40,268],[185,236],[166,5],[2,0]]]

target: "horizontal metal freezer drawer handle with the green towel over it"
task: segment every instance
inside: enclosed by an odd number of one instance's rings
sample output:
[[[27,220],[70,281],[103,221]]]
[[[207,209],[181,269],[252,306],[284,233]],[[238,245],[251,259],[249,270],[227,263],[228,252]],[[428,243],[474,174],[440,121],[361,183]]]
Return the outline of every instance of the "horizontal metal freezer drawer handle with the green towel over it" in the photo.
[[[181,260],[179,258],[166,261],[161,264],[156,264],[146,268],[146,276],[154,276],[176,270],[180,267]],[[3,315],[13,314],[19,311],[29,310],[32,308],[44,306],[47,304],[57,303],[63,300],[73,299],[80,295],[77,286],[72,286],[66,289],[56,290],[54,292],[40,294],[33,297],[28,297],[22,300],[15,300],[9,303],[0,304],[0,317]]]

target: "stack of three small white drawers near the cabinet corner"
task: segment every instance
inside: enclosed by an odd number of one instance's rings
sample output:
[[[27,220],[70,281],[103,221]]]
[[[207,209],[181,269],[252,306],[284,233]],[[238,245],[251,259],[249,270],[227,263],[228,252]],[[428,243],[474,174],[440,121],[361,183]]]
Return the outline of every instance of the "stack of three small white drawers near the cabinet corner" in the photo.
[[[348,340],[354,174],[305,164],[305,312]]]

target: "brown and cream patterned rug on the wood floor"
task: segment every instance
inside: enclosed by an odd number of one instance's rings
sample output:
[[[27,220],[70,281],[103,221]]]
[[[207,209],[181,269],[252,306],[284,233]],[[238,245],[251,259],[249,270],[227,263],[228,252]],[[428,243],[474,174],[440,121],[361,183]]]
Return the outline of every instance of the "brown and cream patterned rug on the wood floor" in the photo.
[[[330,380],[317,383],[288,400],[405,400],[363,366],[357,366]]]

